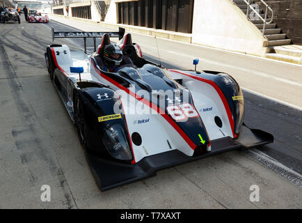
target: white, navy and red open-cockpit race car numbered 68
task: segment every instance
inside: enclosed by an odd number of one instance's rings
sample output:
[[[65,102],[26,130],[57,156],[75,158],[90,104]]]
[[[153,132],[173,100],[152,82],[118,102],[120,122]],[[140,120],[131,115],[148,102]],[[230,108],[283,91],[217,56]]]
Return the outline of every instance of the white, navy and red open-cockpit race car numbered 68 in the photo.
[[[49,45],[45,59],[100,190],[155,176],[159,169],[273,142],[244,124],[244,96],[224,72],[170,70],[143,58],[125,29],[55,32],[84,38],[84,52]],[[100,68],[104,47],[118,37],[127,63]],[[86,38],[94,53],[86,54]],[[96,39],[101,38],[96,47]],[[91,48],[91,47],[89,47]],[[194,60],[193,64],[198,61]]]

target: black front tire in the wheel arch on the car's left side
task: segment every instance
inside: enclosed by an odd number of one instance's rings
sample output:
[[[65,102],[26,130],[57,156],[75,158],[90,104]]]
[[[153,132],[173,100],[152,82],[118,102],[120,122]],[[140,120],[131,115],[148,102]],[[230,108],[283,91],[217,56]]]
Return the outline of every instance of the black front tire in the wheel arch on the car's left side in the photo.
[[[75,93],[74,97],[74,123],[77,128],[80,144],[83,146],[84,150],[86,150],[87,132],[84,120],[83,104],[79,97],[79,93]]]

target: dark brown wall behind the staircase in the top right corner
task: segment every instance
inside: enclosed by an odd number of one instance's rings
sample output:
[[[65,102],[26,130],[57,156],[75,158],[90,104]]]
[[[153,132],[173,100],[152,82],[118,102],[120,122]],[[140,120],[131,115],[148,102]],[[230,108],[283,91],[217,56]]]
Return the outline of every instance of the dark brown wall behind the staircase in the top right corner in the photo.
[[[273,22],[294,44],[302,45],[302,0],[264,0],[273,9]],[[260,1],[260,8],[264,6]]]

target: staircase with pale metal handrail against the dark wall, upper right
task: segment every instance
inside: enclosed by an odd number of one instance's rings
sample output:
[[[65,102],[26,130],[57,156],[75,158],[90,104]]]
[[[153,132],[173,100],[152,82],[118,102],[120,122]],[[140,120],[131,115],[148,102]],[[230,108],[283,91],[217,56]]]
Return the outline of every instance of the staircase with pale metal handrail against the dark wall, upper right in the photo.
[[[266,7],[265,12],[261,9],[256,10],[254,1],[251,0],[232,0],[236,5],[246,14],[249,20],[255,24],[255,26],[262,30],[262,34],[269,40],[268,47],[289,45],[292,40],[287,38],[285,33],[282,33],[281,29],[273,23],[273,10],[265,3],[260,0]],[[271,12],[269,17],[269,11]],[[253,15],[253,17],[251,17]]]

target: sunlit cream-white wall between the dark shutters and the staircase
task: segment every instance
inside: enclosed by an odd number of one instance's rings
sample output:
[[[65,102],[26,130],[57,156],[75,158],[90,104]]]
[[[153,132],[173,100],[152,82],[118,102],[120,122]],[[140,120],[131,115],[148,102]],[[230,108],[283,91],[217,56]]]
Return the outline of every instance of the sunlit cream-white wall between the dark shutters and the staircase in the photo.
[[[230,0],[198,0],[193,11],[192,43],[262,56],[267,40]]]

